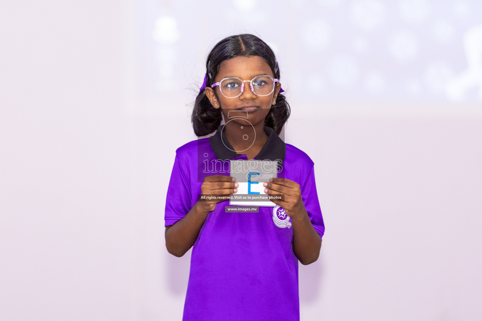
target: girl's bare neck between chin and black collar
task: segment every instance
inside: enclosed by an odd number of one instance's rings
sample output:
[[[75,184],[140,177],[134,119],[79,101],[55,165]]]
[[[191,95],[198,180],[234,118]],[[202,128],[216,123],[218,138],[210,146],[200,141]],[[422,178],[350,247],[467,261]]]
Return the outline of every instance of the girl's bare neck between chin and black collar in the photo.
[[[254,134],[253,127],[256,133],[255,140],[254,137],[251,137]],[[266,141],[268,141],[268,135],[263,129],[264,122],[260,122],[253,127],[251,127],[250,125],[241,126],[233,121],[230,121],[228,122],[228,124],[226,124],[224,129],[224,136],[229,141],[233,149],[235,151],[238,151],[239,154],[246,154],[248,159],[253,159],[254,156],[256,156],[261,151]],[[248,136],[247,139],[244,139],[246,138],[245,135]]]

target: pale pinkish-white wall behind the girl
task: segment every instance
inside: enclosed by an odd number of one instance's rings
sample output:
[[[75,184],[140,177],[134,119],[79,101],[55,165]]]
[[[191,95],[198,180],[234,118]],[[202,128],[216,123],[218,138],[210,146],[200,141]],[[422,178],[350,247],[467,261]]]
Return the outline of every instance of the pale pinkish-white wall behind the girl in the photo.
[[[270,21],[257,1],[182,3],[0,4],[0,320],[181,320],[190,254],[167,253],[163,210],[174,151],[195,139],[188,88],[199,85],[203,59],[222,37],[254,30],[274,39],[269,23],[248,28]],[[293,31],[309,20],[303,13],[331,21],[328,10],[337,10],[337,21],[347,21],[346,39],[361,32],[378,39],[366,29],[377,16],[359,27],[348,24],[353,7],[394,15],[391,3],[271,3],[288,18],[298,8],[298,20],[278,21],[285,33],[275,39],[283,88],[293,89],[285,140],[315,162],[326,224],[320,259],[300,265],[302,320],[476,321],[482,315],[482,104],[477,77],[462,77],[472,69],[461,40],[470,29],[465,24],[482,23],[481,4],[423,2],[466,15],[449,20],[454,77],[439,87],[409,73],[404,81],[414,78],[408,86],[414,91],[397,91],[387,80],[388,90],[373,93],[359,90],[362,76],[329,80],[326,66],[319,69],[325,91],[317,94],[317,85],[309,94],[300,85],[309,69],[301,62],[326,54],[290,49],[303,39]],[[418,12],[415,18],[439,12],[415,9],[409,10]],[[216,24],[228,19],[220,18],[222,10],[236,22],[225,32]],[[178,29],[155,42],[155,21],[166,15]],[[388,25],[375,24],[383,30],[392,26],[390,15],[384,17]],[[427,21],[409,19],[415,25],[407,28],[418,34]],[[189,30],[204,38],[193,42]],[[329,48],[342,51],[344,39]],[[308,44],[323,43],[315,40]],[[417,48],[425,58],[402,67],[385,51],[372,52],[370,61],[359,61],[357,75],[377,59],[384,62],[380,70],[422,70],[431,53]],[[182,56],[170,56],[173,51]],[[150,56],[159,52],[173,61]],[[161,86],[173,75],[177,85]],[[449,90],[456,76],[471,87]]]

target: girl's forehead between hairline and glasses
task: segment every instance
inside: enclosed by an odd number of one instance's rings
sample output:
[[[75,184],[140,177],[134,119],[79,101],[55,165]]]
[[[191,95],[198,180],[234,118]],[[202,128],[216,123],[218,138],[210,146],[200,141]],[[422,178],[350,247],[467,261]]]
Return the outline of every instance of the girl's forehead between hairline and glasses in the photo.
[[[259,56],[234,57],[219,64],[217,77],[255,77],[272,75],[271,67]],[[216,77],[216,78],[217,78]]]

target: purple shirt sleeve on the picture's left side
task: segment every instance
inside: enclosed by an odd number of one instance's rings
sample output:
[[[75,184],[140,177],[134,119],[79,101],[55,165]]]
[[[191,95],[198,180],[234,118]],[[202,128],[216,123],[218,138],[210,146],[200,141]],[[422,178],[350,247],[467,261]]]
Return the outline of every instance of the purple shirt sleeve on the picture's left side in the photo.
[[[167,188],[164,226],[173,225],[186,216],[192,208],[189,172],[188,168],[183,168],[181,163],[176,154],[171,180],[169,180],[169,187]]]

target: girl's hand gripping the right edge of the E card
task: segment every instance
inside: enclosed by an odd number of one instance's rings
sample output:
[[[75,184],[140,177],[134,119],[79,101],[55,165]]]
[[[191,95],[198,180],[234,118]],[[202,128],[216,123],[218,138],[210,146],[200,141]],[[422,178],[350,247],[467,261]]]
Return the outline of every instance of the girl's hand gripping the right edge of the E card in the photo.
[[[282,194],[284,201],[271,201],[284,208],[285,213],[292,219],[302,218],[307,215],[305,205],[301,199],[300,185],[293,180],[283,178],[271,178],[269,182],[264,182],[265,193],[268,195]]]

